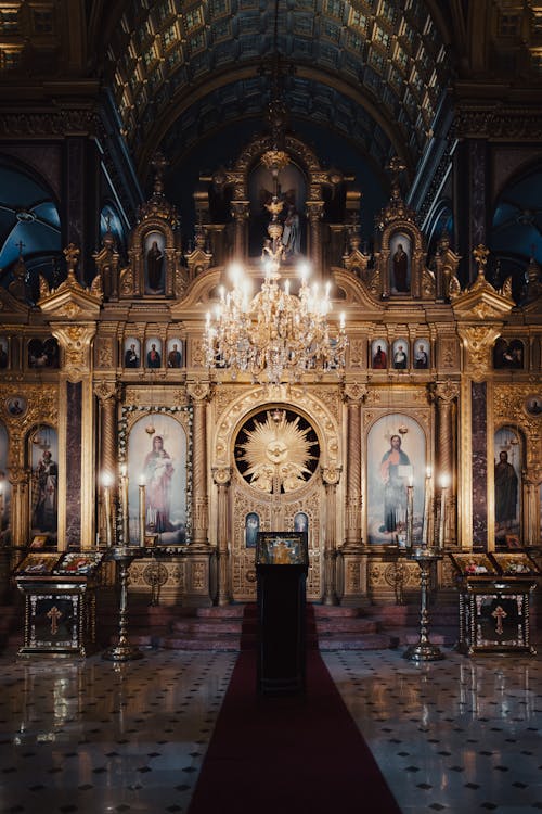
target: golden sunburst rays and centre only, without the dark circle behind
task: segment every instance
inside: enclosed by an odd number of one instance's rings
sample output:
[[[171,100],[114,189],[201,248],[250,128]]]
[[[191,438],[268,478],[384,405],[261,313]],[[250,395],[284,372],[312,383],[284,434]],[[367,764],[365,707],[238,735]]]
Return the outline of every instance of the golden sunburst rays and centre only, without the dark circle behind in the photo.
[[[283,492],[302,486],[311,470],[308,463],[315,460],[311,447],[317,444],[307,436],[310,427],[299,427],[300,416],[288,421],[285,410],[272,410],[253,430],[246,430],[247,441],[241,444],[240,461],[248,465],[244,476],[261,492],[272,492],[273,481]]]

